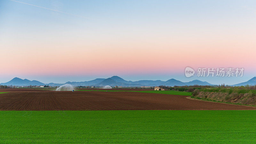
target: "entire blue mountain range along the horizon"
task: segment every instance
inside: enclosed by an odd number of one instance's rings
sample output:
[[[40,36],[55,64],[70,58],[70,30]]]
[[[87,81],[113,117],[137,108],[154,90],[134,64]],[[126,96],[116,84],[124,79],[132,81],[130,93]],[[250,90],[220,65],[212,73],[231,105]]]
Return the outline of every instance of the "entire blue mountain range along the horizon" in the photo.
[[[65,84],[71,84],[73,86],[123,86],[123,87],[133,87],[133,86],[159,86],[159,85],[166,85],[166,86],[184,86],[184,85],[214,85],[210,84],[208,82],[203,82],[200,80],[193,80],[190,82],[181,82],[176,79],[169,79],[167,81],[161,81],[161,80],[140,80],[140,81],[126,81],[123,78],[119,76],[112,76],[107,79],[105,78],[96,78],[91,81],[84,81],[84,82],[66,82]],[[256,77],[253,77],[247,82],[240,83],[240,84],[234,84],[232,86],[241,86],[241,85],[255,85],[256,84]],[[13,78],[11,81],[7,83],[1,83],[1,85],[16,85],[16,86],[28,86],[28,85],[47,85],[44,83],[41,83],[39,81],[33,80],[30,81],[28,79],[20,79],[18,77]],[[56,83],[49,83],[49,86],[60,86],[63,84],[56,84]]]

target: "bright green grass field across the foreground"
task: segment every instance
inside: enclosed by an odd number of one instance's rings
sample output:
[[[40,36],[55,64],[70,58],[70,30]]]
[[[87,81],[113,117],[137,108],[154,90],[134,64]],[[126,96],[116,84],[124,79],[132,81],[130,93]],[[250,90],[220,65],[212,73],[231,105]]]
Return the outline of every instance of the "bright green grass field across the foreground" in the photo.
[[[0,111],[0,143],[254,143],[256,111]]]

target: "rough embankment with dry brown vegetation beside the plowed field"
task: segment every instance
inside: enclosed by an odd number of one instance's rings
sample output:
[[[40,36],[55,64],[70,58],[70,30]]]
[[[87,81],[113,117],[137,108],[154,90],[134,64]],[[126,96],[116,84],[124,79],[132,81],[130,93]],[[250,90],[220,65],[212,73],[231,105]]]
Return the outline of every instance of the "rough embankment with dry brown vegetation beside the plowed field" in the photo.
[[[256,105],[255,93],[237,93],[237,92],[198,92],[192,97],[203,100],[216,100],[230,103],[240,103],[245,105]]]

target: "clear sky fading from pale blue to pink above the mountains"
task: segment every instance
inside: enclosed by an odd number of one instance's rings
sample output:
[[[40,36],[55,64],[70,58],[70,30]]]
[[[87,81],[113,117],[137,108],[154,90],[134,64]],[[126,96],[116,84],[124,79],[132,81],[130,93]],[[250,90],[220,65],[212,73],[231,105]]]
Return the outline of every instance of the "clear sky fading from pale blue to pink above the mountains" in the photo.
[[[255,25],[254,0],[0,0],[0,83],[115,75],[237,84],[256,75]],[[186,77],[186,67],[244,73]]]

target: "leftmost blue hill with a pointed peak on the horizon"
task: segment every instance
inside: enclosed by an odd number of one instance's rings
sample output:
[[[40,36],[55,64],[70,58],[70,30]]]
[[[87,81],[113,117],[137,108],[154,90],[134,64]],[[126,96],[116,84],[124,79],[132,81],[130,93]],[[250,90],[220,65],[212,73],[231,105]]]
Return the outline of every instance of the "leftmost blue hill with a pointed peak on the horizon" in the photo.
[[[21,78],[18,78],[18,77],[14,77],[12,80],[10,80],[7,83],[1,83],[1,85],[28,86],[28,85],[45,85],[45,84],[41,83],[39,81],[36,81],[36,80],[30,81],[28,79],[21,79]]]

